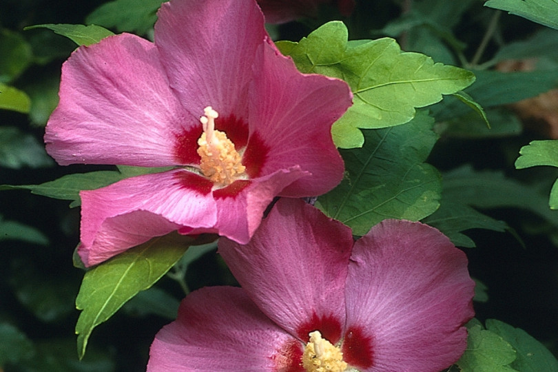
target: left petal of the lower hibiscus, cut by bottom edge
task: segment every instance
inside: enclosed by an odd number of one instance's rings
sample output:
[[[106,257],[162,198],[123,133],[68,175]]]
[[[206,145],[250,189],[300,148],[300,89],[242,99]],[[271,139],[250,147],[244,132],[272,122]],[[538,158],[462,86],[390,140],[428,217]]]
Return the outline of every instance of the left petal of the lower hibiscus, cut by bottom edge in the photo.
[[[282,351],[292,342],[242,289],[205,287],[157,333],[147,371],[283,371],[290,360]]]

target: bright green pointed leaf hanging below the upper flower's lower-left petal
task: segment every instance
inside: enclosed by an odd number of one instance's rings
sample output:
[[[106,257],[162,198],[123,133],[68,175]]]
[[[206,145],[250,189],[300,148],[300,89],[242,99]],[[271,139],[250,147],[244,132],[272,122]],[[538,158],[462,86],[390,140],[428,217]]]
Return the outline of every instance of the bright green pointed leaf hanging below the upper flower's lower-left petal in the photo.
[[[183,256],[192,238],[169,234],[128,249],[85,273],[76,298],[83,310],[76,324],[83,358],[93,329],[108,320],[139,291],[148,289]]]

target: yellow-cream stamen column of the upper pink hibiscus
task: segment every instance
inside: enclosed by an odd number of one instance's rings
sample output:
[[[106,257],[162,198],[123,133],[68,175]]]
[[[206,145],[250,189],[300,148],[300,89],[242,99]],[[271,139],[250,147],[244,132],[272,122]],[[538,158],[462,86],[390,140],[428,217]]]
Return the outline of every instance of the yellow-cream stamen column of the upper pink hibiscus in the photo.
[[[200,118],[203,133],[198,139],[198,154],[201,158],[200,169],[204,176],[216,185],[227,186],[238,178],[245,178],[246,167],[242,158],[224,132],[215,130],[215,119],[219,114],[207,106],[205,116]]]

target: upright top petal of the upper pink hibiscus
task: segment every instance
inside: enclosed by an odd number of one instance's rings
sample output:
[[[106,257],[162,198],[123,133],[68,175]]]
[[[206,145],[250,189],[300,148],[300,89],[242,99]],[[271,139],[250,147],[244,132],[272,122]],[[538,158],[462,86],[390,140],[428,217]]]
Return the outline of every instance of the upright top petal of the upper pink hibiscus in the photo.
[[[155,43],[180,102],[199,116],[210,105],[245,120],[254,57],[267,37],[256,3],[171,1],[158,17]]]

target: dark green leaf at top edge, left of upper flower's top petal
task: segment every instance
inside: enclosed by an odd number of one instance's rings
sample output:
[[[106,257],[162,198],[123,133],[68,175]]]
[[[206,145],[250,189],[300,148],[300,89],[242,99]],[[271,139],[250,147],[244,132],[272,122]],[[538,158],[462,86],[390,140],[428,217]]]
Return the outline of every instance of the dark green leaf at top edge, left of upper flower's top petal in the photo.
[[[96,8],[87,16],[87,23],[115,28],[118,32],[145,34],[153,28],[156,12],[164,0],[116,0]]]

